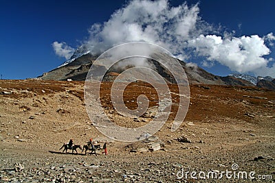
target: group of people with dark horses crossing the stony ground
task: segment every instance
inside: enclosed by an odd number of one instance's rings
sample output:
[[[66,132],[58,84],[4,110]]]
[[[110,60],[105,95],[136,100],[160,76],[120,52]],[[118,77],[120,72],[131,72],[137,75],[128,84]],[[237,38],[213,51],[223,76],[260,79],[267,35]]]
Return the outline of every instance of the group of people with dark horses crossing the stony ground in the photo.
[[[63,149],[63,153],[64,153],[64,151],[66,151],[66,153],[67,153],[67,150],[70,149],[70,150],[72,150],[72,154],[74,154],[74,151],[76,151],[76,154],[78,154],[78,151],[77,151],[78,148],[80,150],[82,150],[82,153],[83,153],[83,151],[85,151],[85,155],[87,154],[87,151],[90,151],[90,154],[93,154],[93,153],[96,154],[96,150],[100,150],[100,149],[104,150],[104,151],[102,151],[102,154],[107,155],[107,143],[105,142],[103,145],[103,148],[101,148],[100,144],[96,145],[93,143],[92,138],[89,139],[89,142],[87,142],[86,145],[83,145],[83,148],[81,147],[81,145],[74,144],[72,139],[69,140],[69,143],[64,143],[63,146],[61,147],[61,149]],[[61,149],[59,149],[59,150],[61,150]]]

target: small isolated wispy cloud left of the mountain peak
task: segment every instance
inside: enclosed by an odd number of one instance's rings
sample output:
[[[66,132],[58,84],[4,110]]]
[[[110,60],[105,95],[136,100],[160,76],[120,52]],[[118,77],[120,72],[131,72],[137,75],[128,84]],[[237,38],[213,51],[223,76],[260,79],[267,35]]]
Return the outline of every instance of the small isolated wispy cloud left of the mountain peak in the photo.
[[[75,50],[72,47],[69,47],[65,42],[54,41],[52,47],[54,48],[56,55],[65,57],[67,60],[72,56]]]

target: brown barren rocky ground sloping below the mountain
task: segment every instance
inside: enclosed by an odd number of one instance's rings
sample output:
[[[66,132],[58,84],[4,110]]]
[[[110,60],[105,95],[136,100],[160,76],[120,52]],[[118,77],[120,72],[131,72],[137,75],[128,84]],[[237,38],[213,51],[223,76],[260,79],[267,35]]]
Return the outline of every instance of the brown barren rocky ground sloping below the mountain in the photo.
[[[111,105],[110,87],[102,84],[101,101],[115,123],[138,127],[153,118],[123,119]],[[177,86],[169,87],[173,106],[164,127],[153,140],[123,143],[92,124],[84,82],[0,80],[0,182],[274,182],[274,90],[192,85],[186,119],[170,132],[178,97]],[[126,88],[126,106],[136,108],[141,94],[157,106],[155,90],[142,83]],[[70,138],[82,146],[89,138],[107,141],[108,155],[63,154]],[[155,141],[159,150],[146,149]]]

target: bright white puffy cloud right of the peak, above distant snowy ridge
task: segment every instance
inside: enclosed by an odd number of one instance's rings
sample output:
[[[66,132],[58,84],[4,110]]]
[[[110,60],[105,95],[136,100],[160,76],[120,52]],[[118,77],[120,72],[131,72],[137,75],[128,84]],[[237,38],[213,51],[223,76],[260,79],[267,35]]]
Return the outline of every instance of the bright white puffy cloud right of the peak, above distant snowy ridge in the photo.
[[[200,35],[188,40],[188,46],[195,48],[199,56],[205,56],[210,65],[211,62],[217,61],[239,73],[265,68],[269,62],[263,56],[269,55],[270,49],[265,46],[264,39],[257,35],[232,39]]]

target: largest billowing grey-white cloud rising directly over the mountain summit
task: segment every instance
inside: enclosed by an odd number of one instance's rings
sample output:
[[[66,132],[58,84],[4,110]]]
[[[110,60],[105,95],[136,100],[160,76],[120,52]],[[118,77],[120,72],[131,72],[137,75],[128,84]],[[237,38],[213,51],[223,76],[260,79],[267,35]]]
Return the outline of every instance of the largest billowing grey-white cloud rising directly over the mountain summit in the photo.
[[[129,1],[109,21],[91,26],[86,45],[97,53],[120,43],[144,41],[163,46],[175,55],[184,54],[186,40],[211,29],[198,14],[197,4],[171,7],[167,0]]]

